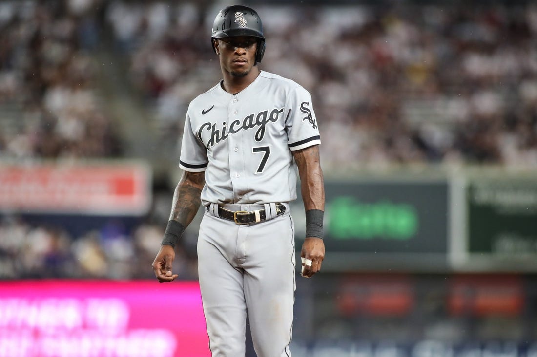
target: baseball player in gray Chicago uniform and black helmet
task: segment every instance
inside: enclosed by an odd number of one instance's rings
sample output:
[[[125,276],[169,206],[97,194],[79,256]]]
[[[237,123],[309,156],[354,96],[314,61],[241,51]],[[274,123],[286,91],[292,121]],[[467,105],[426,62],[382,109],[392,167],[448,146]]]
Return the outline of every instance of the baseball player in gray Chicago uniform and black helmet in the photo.
[[[184,174],[153,269],[159,282],[177,278],[174,247],[202,204],[198,272],[212,356],[244,356],[248,313],[258,357],[289,357],[296,168],[306,209],[302,276],[313,276],[324,259],[321,141],[311,96],[259,69],[265,37],[256,11],[222,9],[211,42],[223,79],[188,107]]]

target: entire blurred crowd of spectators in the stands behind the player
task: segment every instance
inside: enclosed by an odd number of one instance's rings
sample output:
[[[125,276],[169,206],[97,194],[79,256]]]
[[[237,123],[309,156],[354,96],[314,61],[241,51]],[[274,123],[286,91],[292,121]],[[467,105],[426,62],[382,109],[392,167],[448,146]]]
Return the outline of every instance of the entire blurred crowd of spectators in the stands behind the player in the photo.
[[[222,6],[0,2],[0,159],[128,155],[100,92],[106,78],[95,54],[106,41],[164,129],[160,143],[178,148],[188,103],[221,78],[210,32]],[[267,42],[260,67],[313,95],[327,172],[397,163],[537,167],[534,3],[252,6]],[[169,156],[175,162],[178,152]],[[105,228],[79,235],[0,218],[0,278],[149,277],[165,227],[165,219],[143,221],[111,237]],[[184,254],[185,277],[195,277],[195,256]]]

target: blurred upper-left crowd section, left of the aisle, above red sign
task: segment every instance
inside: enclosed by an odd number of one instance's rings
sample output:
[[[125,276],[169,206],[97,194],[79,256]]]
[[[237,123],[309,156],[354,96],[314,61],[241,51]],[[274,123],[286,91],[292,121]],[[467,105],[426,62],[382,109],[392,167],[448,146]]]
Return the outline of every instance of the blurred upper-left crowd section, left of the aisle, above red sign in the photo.
[[[76,3],[0,3],[0,158],[120,153],[95,85],[98,29]]]

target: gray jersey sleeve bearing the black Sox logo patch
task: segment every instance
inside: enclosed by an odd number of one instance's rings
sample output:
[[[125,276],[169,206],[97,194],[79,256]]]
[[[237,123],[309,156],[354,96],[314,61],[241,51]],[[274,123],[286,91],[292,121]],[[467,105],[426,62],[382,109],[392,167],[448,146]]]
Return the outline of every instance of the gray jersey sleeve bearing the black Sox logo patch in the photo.
[[[296,87],[286,101],[287,145],[289,150],[300,150],[321,144],[317,118],[311,103],[311,95],[303,87]]]

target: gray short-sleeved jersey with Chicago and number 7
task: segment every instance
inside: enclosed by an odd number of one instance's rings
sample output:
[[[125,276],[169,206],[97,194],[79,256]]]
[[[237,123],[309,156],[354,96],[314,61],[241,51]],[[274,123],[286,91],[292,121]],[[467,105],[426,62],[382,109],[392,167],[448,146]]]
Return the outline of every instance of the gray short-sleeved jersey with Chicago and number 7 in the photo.
[[[206,206],[289,202],[296,198],[292,151],[320,143],[308,91],[261,71],[236,95],[219,83],[190,103],[179,167],[206,171]]]

